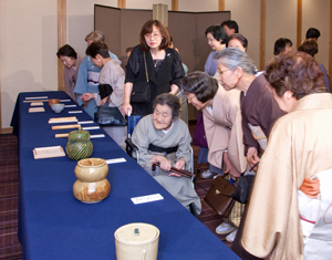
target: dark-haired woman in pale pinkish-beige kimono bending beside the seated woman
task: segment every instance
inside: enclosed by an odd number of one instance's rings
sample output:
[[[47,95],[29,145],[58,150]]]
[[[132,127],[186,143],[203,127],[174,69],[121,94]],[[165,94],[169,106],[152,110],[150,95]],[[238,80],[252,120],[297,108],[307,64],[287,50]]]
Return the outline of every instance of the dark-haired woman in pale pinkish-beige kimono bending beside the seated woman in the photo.
[[[216,79],[198,71],[184,77],[181,87],[188,103],[203,111],[209,164],[219,171],[217,174],[225,171],[234,178],[239,177],[247,167],[242,144],[240,92],[228,92]],[[238,225],[239,222],[235,223]],[[216,232],[226,235],[235,230],[236,227],[221,223]]]

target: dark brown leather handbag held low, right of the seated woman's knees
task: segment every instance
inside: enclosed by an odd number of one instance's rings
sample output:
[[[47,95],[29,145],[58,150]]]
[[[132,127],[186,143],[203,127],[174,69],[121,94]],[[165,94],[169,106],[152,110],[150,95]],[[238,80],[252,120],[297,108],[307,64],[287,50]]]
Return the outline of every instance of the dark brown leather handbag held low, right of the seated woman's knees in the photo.
[[[235,204],[232,194],[235,186],[231,185],[225,175],[217,176],[204,200],[220,216],[228,217]]]

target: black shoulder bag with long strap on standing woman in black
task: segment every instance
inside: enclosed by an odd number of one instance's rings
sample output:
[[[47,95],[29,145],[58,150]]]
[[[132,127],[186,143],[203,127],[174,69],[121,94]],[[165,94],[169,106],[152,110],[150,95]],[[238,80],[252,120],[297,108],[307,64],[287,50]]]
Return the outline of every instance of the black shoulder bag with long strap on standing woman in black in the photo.
[[[143,55],[144,55],[146,82],[134,82],[132,95],[131,95],[131,103],[151,102],[151,85],[148,84],[148,73],[147,73],[145,52],[143,53]]]

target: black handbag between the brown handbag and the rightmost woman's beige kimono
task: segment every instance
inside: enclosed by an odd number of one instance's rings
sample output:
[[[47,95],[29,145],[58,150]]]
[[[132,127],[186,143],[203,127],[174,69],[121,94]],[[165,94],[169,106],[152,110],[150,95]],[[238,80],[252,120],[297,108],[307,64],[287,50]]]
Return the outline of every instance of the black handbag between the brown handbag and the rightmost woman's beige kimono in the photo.
[[[257,166],[257,164],[255,164],[249,169],[249,171],[241,174],[241,176],[238,179],[238,184],[236,186],[232,198],[240,204],[248,204],[249,201],[252,183],[256,175],[256,173],[252,171],[252,169]]]

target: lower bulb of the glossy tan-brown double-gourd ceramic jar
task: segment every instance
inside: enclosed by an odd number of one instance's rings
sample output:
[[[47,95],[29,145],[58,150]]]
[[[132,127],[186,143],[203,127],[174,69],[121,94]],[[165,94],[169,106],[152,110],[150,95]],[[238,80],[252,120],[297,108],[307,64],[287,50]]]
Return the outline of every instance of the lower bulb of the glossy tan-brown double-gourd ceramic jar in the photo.
[[[82,183],[79,179],[73,185],[74,197],[85,204],[95,204],[108,196],[111,185],[105,178],[95,183]]]

